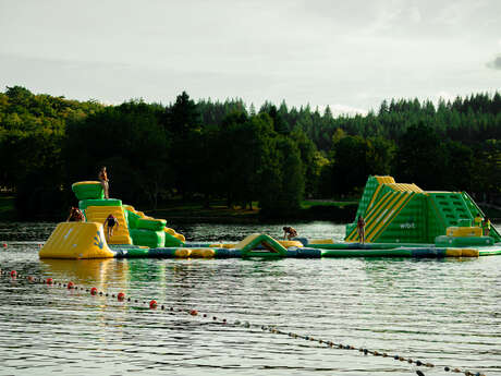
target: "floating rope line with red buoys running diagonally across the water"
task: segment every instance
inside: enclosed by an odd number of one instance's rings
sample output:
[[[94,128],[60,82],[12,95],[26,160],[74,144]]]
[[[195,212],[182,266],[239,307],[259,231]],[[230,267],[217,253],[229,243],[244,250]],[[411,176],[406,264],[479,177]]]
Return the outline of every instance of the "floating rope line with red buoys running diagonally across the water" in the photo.
[[[249,322],[241,322],[239,319],[234,320],[232,324],[229,324],[229,322],[225,318],[218,318],[217,316],[210,316],[209,314],[200,314],[197,310],[194,308],[175,308],[173,306],[168,306],[166,304],[161,304],[159,306],[158,302],[156,300],[150,300],[149,302],[143,300],[139,301],[137,299],[132,299],[131,296],[125,298],[125,293],[119,292],[118,294],[114,293],[108,293],[103,291],[98,291],[96,288],[82,288],[75,286],[72,281],[69,281],[68,283],[65,282],[57,282],[52,278],[41,278],[41,277],[33,277],[33,276],[22,276],[15,270],[7,271],[0,269],[0,277],[10,277],[11,279],[19,279],[21,280],[27,280],[30,283],[40,283],[40,284],[48,284],[48,286],[54,286],[54,287],[62,287],[68,290],[75,290],[75,291],[85,291],[88,292],[90,295],[99,295],[99,296],[106,296],[106,298],[113,298],[117,299],[118,302],[130,302],[130,303],[136,303],[139,304],[142,303],[143,305],[149,306],[150,310],[157,310],[160,308],[161,311],[167,311],[169,313],[186,313],[191,316],[200,316],[203,318],[208,318],[211,319],[213,324],[221,324],[221,325],[233,325],[235,327],[244,327],[244,328],[259,328],[262,331],[269,331],[274,335],[283,335],[283,336],[289,336],[294,339],[303,339],[309,342],[318,342],[319,344],[325,344],[328,348],[332,349],[340,349],[340,350],[352,350],[352,351],[358,351],[361,353],[364,353],[364,355],[374,355],[374,356],[381,356],[381,357],[389,357],[393,359],[395,361],[400,362],[406,362],[408,364],[415,364],[418,367],[428,367],[428,368],[433,368],[436,365],[433,363],[427,363],[423,362],[420,360],[413,360],[411,357],[404,357],[401,355],[396,354],[389,354],[387,352],[380,352],[377,350],[369,350],[366,348],[359,348],[359,347],[354,347],[351,344],[343,344],[343,343],[335,343],[330,340],[325,340],[320,338],[315,338],[311,336],[304,336],[304,335],[298,335],[292,331],[283,331],[278,329],[274,326],[267,326],[267,325],[258,325],[258,324],[250,324]],[[461,369],[457,367],[450,367],[450,366],[444,366],[443,371],[445,372],[452,372],[452,373],[457,373],[457,374],[464,374],[465,376],[486,376],[485,374],[477,372],[473,373],[468,369]],[[418,376],[425,376],[423,371],[417,369],[416,374]]]

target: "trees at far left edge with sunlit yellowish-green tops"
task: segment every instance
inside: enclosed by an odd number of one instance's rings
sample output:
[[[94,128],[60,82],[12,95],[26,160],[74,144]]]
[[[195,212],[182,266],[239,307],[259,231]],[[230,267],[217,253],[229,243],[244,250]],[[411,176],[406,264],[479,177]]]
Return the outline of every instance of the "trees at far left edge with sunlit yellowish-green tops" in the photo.
[[[46,218],[61,210],[66,123],[101,108],[94,101],[34,95],[21,86],[0,93],[0,186],[15,193],[21,218]]]

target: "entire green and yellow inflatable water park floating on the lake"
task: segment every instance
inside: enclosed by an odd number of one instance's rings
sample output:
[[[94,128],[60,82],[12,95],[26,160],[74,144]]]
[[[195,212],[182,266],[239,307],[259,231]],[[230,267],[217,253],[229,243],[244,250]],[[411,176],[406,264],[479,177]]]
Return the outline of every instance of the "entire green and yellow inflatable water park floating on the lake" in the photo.
[[[100,182],[72,185],[86,221],[59,223],[39,252],[40,258],[229,258],[229,257],[478,257],[501,254],[501,235],[474,226],[481,209],[466,192],[423,191],[395,183],[392,177],[369,177],[356,218],[346,225],[343,242],[296,238],[281,241],[264,233],[239,243],[194,243],[156,219],[105,199]],[[103,222],[114,216],[119,227],[107,239]],[[361,243],[357,219],[365,220]]]

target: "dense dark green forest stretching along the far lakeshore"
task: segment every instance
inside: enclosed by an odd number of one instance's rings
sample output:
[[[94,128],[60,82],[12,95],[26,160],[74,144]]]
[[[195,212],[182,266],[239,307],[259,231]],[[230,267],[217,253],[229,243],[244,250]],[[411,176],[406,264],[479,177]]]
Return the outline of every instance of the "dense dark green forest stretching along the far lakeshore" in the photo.
[[[206,206],[286,215],[302,199],[359,195],[367,175],[425,190],[467,191],[493,202],[501,189],[501,95],[454,101],[392,99],[366,116],[241,99],[119,106],[0,93],[0,189],[21,218],[48,218],[72,202],[71,183],[107,166],[112,195],[151,208],[176,197]]]

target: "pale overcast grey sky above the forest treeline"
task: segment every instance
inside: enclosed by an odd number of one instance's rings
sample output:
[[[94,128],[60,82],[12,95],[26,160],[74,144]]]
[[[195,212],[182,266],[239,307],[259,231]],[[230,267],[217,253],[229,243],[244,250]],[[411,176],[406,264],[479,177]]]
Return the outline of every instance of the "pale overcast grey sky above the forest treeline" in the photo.
[[[501,1],[0,0],[0,90],[334,112],[501,90]]]

